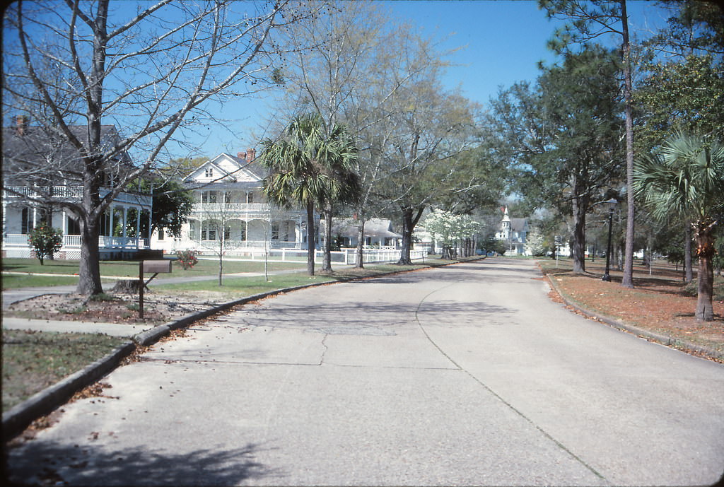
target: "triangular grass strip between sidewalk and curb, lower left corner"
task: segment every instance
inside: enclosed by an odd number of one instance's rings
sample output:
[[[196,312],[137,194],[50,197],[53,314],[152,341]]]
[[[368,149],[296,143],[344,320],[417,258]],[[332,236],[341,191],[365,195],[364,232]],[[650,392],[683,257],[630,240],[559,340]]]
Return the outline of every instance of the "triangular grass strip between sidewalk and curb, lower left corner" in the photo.
[[[104,357],[125,342],[100,334],[2,331],[2,410]]]

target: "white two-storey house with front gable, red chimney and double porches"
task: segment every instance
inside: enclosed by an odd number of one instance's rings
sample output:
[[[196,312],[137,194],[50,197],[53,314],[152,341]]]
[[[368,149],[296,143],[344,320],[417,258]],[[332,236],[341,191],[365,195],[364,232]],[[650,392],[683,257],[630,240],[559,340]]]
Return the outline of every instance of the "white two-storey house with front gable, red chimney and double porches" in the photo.
[[[154,234],[154,247],[167,253],[187,249],[214,253],[223,239],[227,255],[306,249],[306,212],[271,205],[261,190],[265,176],[266,169],[256,161],[253,149],[236,156],[221,153],[204,162],[183,179],[193,190],[195,203],[181,238],[160,229]],[[315,229],[312,235],[316,246]]]

